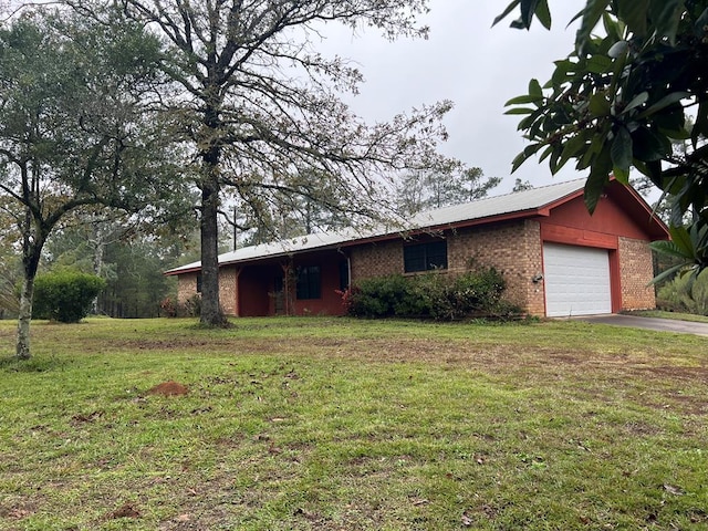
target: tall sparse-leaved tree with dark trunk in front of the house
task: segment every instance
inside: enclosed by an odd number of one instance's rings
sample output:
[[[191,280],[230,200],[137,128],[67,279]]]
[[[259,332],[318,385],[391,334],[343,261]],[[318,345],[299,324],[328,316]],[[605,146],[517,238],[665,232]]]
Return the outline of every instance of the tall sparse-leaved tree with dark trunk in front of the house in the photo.
[[[448,102],[388,123],[367,125],[339,93],[361,73],[315,50],[327,23],[374,27],[388,38],[425,37],[416,15],[427,0],[122,0],[168,48],[165,71],[181,87],[166,100],[198,168],[201,230],[201,323],[223,325],[219,308],[218,212],[230,186],[249,198],[299,194],[300,177],[325,179],[352,219],[393,211],[392,173],[428,167],[445,137]],[[76,2],[86,10],[86,2]],[[258,190],[258,194],[256,192]],[[313,198],[326,202],[327,198]]]

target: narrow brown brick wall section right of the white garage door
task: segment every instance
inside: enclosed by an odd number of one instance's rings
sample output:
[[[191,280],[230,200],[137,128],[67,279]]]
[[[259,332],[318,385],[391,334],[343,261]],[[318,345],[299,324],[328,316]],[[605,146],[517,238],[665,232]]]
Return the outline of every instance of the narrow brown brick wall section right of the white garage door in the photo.
[[[654,262],[648,242],[620,238],[620,282],[622,310],[648,310],[656,306],[654,285],[647,285],[654,277]]]

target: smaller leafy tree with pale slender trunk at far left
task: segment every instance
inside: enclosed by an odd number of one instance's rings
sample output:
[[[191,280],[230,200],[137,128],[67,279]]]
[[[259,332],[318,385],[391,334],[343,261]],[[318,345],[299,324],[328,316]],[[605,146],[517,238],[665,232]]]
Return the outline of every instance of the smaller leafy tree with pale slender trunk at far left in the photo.
[[[0,192],[13,202],[22,250],[19,358],[31,355],[34,278],[51,232],[100,206],[157,220],[179,197],[145,104],[159,58],[137,24],[38,10],[0,29]]]

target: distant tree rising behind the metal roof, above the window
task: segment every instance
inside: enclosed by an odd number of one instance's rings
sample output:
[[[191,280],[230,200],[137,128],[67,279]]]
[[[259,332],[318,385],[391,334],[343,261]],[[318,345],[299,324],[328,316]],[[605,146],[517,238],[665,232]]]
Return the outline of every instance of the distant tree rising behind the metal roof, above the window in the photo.
[[[460,163],[412,171],[400,179],[397,187],[398,209],[402,216],[412,216],[423,210],[473,201],[486,197],[499,183],[499,177],[485,178],[481,168],[468,168]]]

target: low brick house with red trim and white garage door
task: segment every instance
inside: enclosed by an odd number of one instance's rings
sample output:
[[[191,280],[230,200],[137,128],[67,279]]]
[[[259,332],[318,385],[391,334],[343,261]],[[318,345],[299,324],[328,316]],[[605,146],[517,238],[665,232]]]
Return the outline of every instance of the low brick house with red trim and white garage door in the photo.
[[[506,298],[531,315],[616,313],[655,306],[648,243],[666,226],[632,189],[613,180],[595,214],[583,202],[584,179],[533,188],[418,215],[412,228],[368,235],[310,235],[219,257],[227,314],[341,314],[336,290],[389,273],[466,271],[493,266]],[[198,293],[199,262],[178,277],[180,302]]]

